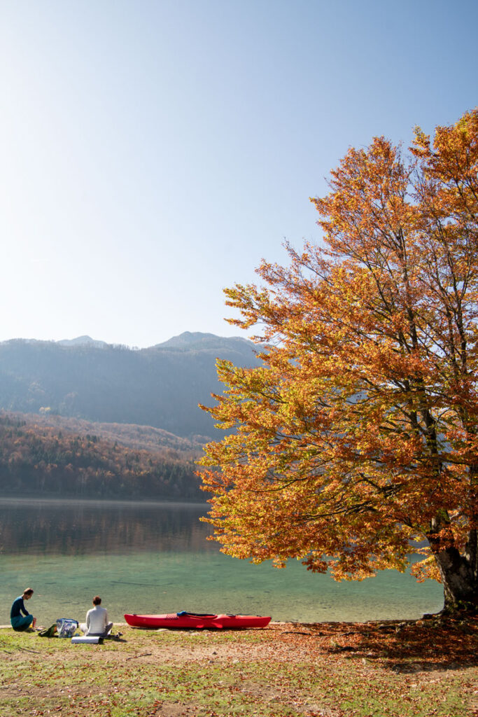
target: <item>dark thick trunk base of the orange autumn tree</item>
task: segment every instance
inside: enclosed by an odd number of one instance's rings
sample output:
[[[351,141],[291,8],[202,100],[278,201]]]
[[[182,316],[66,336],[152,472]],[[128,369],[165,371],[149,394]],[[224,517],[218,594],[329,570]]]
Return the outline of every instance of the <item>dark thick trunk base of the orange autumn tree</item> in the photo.
[[[444,612],[478,609],[478,533],[469,532],[464,554],[443,539],[428,536],[444,588]]]

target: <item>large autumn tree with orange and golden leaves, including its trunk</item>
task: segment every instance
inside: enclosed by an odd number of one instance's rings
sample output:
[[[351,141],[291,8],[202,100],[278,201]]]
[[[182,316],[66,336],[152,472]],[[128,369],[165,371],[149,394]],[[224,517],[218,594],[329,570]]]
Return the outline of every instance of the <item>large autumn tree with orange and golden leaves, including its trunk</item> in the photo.
[[[209,521],[231,556],[336,579],[404,570],[477,604],[478,110],[350,149],[312,199],[323,244],[226,290],[262,365],[218,362]],[[422,543],[423,544],[423,543]],[[420,549],[419,549],[420,550]]]

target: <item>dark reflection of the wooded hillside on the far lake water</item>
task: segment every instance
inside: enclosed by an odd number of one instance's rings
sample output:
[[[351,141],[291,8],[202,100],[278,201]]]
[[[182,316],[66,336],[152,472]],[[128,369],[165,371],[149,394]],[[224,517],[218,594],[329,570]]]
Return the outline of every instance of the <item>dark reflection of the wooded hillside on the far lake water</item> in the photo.
[[[205,509],[188,505],[22,503],[0,505],[1,554],[215,551]]]

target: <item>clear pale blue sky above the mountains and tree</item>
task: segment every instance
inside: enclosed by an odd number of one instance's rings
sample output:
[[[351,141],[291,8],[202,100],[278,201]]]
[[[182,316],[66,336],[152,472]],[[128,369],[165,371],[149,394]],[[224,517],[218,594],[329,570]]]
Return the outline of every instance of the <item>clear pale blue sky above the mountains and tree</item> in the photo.
[[[1,0],[0,341],[237,335],[349,146],[478,105],[476,0]]]

